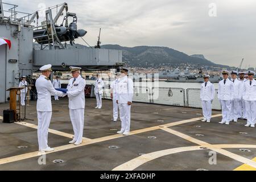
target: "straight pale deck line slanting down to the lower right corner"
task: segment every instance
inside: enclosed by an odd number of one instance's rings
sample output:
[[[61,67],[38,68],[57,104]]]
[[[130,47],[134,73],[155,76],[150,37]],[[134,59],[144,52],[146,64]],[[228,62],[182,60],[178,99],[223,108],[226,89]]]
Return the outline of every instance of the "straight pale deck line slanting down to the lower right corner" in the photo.
[[[188,140],[189,142],[193,142],[193,143],[199,144],[200,146],[207,147],[210,150],[216,151],[216,152],[218,152],[218,153],[220,153],[222,155],[228,156],[229,158],[237,160],[237,161],[239,161],[239,162],[241,162],[243,164],[248,164],[249,166],[256,168],[256,162],[254,162],[253,160],[250,160],[250,159],[247,159],[247,158],[243,158],[240,155],[237,155],[237,154],[234,154],[232,152],[226,151],[226,150],[224,150],[222,148],[218,148],[218,147],[213,146],[212,144],[209,144],[207,142],[204,142],[204,141],[201,141],[199,139],[195,139],[195,138],[189,137],[188,135],[180,133],[179,131],[175,131],[175,130],[172,130],[172,129],[169,129],[169,128],[161,128],[161,130],[167,131],[168,133],[174,134],[177,137],[180,137],[180,138],[183,138],[185,140]]]

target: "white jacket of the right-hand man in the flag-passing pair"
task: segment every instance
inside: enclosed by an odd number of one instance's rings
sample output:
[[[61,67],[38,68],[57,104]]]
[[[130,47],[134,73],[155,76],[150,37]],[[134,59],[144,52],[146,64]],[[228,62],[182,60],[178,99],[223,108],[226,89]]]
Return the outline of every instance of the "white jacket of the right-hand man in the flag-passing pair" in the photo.
[[[74,78],[71,78],[68,82],[68,100],[69,109],[84,109],[85,108],[85,95],[84,88],[86,85],[85,79],[80,75],[73,82]]]

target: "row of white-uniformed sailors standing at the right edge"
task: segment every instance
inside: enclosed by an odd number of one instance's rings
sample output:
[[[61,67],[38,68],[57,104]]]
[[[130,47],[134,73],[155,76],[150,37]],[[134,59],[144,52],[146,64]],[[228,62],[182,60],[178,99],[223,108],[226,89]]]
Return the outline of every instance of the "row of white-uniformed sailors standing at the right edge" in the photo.
[[[223,80],[218,83],[218,100],[221,103],[222,120],[220,124],[229,125],[231,121],[247,119],[246,127],[255,127],[256,123],[256,81],[255,72],[223,71]],[[238,79],[237,76],[240,75]],[[204,119],[202,122],[210,122],[212,115],[212,101],[215,96],[214,85],[209,81],[209,75],[204,75],[204,83],[201,84],[200,98],[202,101]]]

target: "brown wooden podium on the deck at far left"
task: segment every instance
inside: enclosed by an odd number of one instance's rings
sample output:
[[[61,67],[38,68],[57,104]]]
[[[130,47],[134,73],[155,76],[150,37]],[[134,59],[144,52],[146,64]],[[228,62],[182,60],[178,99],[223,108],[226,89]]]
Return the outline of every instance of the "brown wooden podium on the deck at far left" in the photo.
[[[17,121],[20,119],[20,90],[24,89],[24,87],[11,87],[7,89],[6,91],[10,91],[10,110],[14,110],[14,121]],[[16,109],[16,96],[19,96],[19,109]],[[17,116],[17,110],[19,111],[19,116]]]

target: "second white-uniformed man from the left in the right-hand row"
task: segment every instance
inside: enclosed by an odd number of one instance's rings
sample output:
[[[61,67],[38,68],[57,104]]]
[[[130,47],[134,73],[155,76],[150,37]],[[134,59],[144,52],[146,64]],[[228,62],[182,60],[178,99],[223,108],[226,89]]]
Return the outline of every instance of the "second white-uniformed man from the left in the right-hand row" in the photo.
[[[223,71],[223,80],[218,82],[218,100],[221,102],[222,107],[222,121],[220,124],[229,125],[230,120],[232,120],[232,100],[234,93],[234,84],[229,80],[229,72]]]

